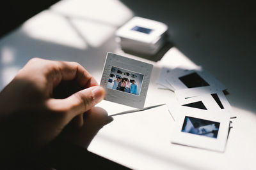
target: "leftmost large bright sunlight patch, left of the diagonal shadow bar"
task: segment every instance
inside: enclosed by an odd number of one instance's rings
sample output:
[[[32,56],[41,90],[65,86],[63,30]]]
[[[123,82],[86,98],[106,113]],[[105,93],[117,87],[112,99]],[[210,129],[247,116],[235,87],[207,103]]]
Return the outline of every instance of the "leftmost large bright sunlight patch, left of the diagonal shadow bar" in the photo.
[[[28,36],[60,45],[86,49],[87,44],[62,16],[51,11],[42,11],[22,25]]]

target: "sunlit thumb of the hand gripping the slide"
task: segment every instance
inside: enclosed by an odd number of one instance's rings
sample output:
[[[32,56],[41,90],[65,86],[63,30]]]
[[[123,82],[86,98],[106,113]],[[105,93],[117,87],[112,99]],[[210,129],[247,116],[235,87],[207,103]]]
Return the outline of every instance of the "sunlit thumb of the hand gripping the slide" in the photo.
[[[56,111],[67,114],[67,122],[77,115],[90,110],[95,104],[104,99],[105,90],[102,87],[94,86],[72,94],[65,99],[51,99],[49,103]]]

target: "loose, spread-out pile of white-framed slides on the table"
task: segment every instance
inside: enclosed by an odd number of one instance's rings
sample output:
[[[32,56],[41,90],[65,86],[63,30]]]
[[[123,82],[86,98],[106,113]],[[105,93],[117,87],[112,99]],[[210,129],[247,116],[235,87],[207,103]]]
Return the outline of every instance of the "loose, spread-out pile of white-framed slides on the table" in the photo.
[[[201,67],[163,67],[157,84],[177,97],[177,108],[170,108],[175,120],[172,143],[223,152],[234,117],[223,94],[225,85]]]

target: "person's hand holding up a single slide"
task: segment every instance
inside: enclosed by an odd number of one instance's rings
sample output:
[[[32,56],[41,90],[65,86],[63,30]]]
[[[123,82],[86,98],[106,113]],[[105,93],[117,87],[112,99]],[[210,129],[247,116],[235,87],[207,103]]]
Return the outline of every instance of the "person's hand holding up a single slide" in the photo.
[[[54,90],[65,82],[77,88],[67,89],[75,93],[64,99],[54,98]],[[39,149],[56,138],[71,120],[81,127],[83,113],[99,103],[104,94],[104,89],[76,62],[29,60],[0,92],[1,157]]]

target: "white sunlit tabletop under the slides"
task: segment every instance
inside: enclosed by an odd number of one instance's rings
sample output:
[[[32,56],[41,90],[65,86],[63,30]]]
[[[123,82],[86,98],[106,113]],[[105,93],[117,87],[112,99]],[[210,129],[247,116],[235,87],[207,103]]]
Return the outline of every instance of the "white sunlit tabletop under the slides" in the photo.
[[[133,15],[117,0],[66,0],[54,4],[0,39],[0,89],[32,57],[79,62],[99,82],[106,53],[115,52],[154,64],[145,106],[167,103],[174,107],[173,92],[156,87],[161,67],[196,64],[177,48],[172,48],[159,62],[122,52],[114,34]],[[175,32],[175,26],[167,24]],[[173,41],[178,37],[174,34]],[[88,150],[133,169],[255,169],[256,99],[252,73],[256,69],[251,67],[250,59],[207,58],[200,64],[204,63],[209,63],[204,67],[228,87],[227,99],[237,115],[232,120],[224,153],[170,143],[173,119],[167,106],[113,117],[113,122],[100,129]],[[211,63],[219,65],[211,67]],[[98,106],[109,115],[132,109],[108,101]]]

